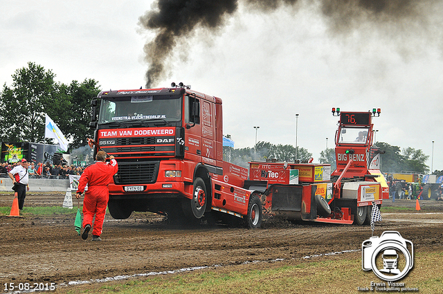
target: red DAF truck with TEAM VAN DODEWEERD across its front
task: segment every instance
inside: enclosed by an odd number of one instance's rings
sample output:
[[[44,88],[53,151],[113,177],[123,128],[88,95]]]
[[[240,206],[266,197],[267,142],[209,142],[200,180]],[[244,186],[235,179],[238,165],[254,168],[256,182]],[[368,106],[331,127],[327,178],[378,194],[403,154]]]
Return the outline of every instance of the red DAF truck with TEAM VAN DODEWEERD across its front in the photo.
[[[248,169],[223,160],[221,99],[173,84],[102,91],[91,106],[95,140],[118,161],[112,217],[150,211],[194,221],[212,211],[260,227],[260,193],[244,188]]]

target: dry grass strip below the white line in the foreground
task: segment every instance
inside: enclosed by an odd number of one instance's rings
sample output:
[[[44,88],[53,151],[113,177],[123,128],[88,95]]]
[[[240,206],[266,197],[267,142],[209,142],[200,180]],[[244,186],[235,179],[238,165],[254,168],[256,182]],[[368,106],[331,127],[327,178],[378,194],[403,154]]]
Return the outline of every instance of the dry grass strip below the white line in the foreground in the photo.
[[[422,252],[415,256],[415,268],[399,282],[419,288],[419,293],[441,293],[443,288],[443,252]],[[361,255],[352,253],[337,259],[320,257],[318,261],[284,261],[283,264],[259,263],[147,279],[133,279],[105,285],[59,288],[60,293],[360,293],[357,287],[381,283],[372,271],[361,269]],[[293,265],[298,262],[299,264]],[[281,265],[280,265],[281,264]],[[387,282],[386,286],[388,285]],[[66,291],[66,292],[65,292]],[[373,291],[374,293],[386,293]],[[412,293],[417,293],[412,292]]]

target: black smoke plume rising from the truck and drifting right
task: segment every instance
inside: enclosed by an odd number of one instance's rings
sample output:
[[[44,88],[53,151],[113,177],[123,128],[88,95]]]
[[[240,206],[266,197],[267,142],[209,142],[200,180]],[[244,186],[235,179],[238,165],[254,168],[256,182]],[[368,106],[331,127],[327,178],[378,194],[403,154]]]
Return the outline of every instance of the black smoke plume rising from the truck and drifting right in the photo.
[[[251,11],[264,13],[281,6],[294,10],[307,6],[319,8],[319,15],[325,17],[332,34],[358,30],[362,24],[382,30],[395,27],[399,33],[408,34],[411,28],[424,29],[428,12],[439,3],[438,0],[158,0],[154,9],[139,19],[142,28],[156,33],[144,48],[149,64],[146,87],[158,86],[165,79],[170,71],[168,58],[183,38],[191,37],[197,28],[210,33],[219,30],[237,11],[239,2]]]

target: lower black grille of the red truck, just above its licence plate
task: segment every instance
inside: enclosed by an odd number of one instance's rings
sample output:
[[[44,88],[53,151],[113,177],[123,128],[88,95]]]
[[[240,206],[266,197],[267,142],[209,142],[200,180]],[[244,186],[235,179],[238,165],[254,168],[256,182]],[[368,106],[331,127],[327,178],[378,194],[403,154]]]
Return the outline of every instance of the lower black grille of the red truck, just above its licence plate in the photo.
[[[116,185],[155,183],[159,174],[159,161],[118,163],[118,173],[114,176]]]

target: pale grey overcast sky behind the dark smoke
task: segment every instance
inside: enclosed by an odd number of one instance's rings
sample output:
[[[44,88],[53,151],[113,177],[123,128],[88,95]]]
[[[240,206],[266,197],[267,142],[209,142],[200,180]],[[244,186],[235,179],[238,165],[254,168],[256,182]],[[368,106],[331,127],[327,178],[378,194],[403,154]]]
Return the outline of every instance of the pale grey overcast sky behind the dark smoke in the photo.
[[[342,111],[381,108],[377,141],[422,149],[443,169],[443,5],[405,24],[363,23],[344,32],[311,5],[269,12],[242,3],[217,33],[197,29],[170,62],[171,82],[215,95],[235,148],[257,140],[305,147],[318,162],[334,146]],[[102,89],[144,86],[143,46],[154,32],[138,19],[154,1],[0,0],[0,82],[35,62],[65,84],[92,78]],[[424,1],[434,3],[434,1]],[[409,23],[407,23],[409,24]],[[328,140],[326,139],[328,138]],[[434,145],[432,141],[435,141]],[[434,147],[434,149],[433,149]],[[432,156],[432,150],[433,156]]]

